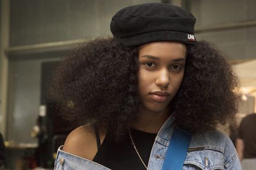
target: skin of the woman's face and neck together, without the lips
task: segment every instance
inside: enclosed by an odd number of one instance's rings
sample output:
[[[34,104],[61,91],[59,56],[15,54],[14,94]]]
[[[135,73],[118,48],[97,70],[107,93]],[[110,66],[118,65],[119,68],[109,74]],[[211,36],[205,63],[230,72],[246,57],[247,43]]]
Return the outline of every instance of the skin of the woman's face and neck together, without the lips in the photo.
[[[169,103],[184,76],[186,46],[180,42],[152,42],[139,48],[139,95],[143,108],[134,129],[157,133],[170,116]],[[152,99],[152,92],[167,91],[164,102]]]

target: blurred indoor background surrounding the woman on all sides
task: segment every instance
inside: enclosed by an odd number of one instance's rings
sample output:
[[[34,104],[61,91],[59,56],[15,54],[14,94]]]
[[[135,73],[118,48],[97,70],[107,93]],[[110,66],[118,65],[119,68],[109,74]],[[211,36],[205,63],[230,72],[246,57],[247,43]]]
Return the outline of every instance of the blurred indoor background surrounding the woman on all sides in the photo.
[[[256,112],[254,0],[1,0],[0,132],[6,169],[53,168],[58,146],[74,127],[61,121],[56,103],[46,97],[52,70],[79,40],[111,36],[111,18],[119,9],[148,2],[193,13],[197,39],[216,44],[237,70],[244,94],[238,125]]]

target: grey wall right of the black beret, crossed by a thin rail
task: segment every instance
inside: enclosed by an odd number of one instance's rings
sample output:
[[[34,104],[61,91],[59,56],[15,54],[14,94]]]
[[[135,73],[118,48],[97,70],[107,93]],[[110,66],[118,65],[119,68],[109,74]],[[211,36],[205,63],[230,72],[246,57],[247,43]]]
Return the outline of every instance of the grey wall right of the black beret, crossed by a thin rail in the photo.
[[[256,19],[254,0],[192,0],[191,12],[197,27],[223,26]],[[233,60],[256,58],[256,26],[197,33],[199,39],[214,42]]]

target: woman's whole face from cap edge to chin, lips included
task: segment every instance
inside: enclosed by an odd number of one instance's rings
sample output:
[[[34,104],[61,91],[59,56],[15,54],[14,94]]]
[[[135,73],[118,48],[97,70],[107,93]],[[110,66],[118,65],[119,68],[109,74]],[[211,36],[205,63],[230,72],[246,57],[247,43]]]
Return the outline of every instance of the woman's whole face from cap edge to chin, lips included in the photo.
[[[143,109],[169,111],[184,75],[186,46],[180,42],[152,42],[139,47],[139,95]]]

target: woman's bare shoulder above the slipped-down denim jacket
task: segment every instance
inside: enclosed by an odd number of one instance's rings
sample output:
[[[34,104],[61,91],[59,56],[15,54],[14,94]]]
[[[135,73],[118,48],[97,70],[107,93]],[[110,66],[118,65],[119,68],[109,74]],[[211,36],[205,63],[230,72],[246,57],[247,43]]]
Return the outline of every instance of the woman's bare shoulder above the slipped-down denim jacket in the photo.
[[[89,126],[80,126],[66,138],[63,151],[92,160],[97,153],[95,133]]]

